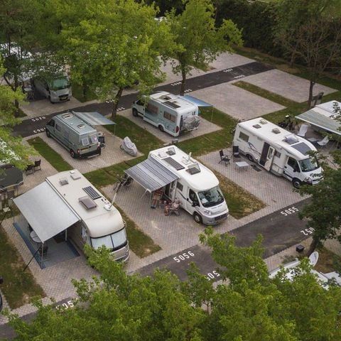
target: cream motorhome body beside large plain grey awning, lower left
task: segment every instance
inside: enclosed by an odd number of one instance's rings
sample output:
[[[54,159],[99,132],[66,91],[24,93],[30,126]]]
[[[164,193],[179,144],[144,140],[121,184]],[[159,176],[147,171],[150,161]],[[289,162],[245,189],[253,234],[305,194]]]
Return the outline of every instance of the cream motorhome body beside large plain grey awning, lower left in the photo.
[[[129,258],[125,222],[119,211],[85,178],[80,171],[65,171],[45,179],[68,205],[79,221],[67,229],[77,247],[89,244],[94,249],[105,245],[117,261]]]

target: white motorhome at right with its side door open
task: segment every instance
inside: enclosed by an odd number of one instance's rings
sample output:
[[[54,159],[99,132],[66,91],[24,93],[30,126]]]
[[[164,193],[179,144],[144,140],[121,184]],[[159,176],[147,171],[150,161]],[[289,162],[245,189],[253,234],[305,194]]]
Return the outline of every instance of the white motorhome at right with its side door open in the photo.
[[[291,180],[295,188],[322,178],[318,161],[309,156],[315,146],[261,117],[237,124],[233,144],[266,171]]]

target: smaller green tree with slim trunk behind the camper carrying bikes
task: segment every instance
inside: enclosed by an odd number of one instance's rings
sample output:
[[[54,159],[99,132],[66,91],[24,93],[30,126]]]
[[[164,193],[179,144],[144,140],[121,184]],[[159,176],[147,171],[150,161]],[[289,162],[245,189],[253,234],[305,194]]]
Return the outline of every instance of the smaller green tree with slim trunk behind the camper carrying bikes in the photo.
[[[180,94],[185,92],[186,76],[193,67],[207,70],[219,53],[232,52],[232,45],[242,45],[242,33],[230,20],[215,27],[215,9],[210,0],[185,0],[185,10],[177,14],[171,10],[166,22],[171,26],[178,48],[171,57],[173,72],[182,76]]]

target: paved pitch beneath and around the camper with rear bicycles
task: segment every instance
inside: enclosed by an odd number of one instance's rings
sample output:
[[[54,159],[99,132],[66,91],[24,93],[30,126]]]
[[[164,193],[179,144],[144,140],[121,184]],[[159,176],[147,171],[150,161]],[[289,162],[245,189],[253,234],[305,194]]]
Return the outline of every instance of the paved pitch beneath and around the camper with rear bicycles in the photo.
[[[149,124],[148,122],[144,121],[141,117],[134,117],[131,114],[131,109],[119,112],[119,114],[126,117],[127,119],[130,119],[132,122],[134,122],[134,124],[141,126],[141,128],[145,129],[146,131],[150,132],[154,136],[158,137],[158,139],[161,139],[161,141],[163,142],[171,142],[173,139],[184,141],[188,139],[193,139],[193,137],[212,133],[213,131],[218,131],[222,129],[220,126],[217,126],[216,124],[213,124],[212,122],[201,118],[201,122],[200,122],[198,129],[195,129],[193,131],[188,131],[188,132],[181,134],[178,137],[174,137],[174,136],[171,136],[170,134],[167,134],[166,132],[160,131],[156,126]]]

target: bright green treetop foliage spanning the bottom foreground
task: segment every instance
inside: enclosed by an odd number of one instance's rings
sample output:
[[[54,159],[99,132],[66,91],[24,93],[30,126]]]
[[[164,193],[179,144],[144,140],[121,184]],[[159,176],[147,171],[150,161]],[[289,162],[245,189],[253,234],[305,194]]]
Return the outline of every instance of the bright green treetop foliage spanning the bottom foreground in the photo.
[[[100,276],[74,281],[75,308],[55,309],[36,302],[28,323],[9,314],[16,340],[339,340],[341,288],[326,290],[310,272],[308,260],[288,279],[270,279],[262,260],[261,238],[239,248],[234,237],[207,230],[224,281],[217,286],[195,265],[181,283],[168,271],[152,277],[128,276],[109,250],[87,248]],[[227,278],[228,276],[228,278]]]

